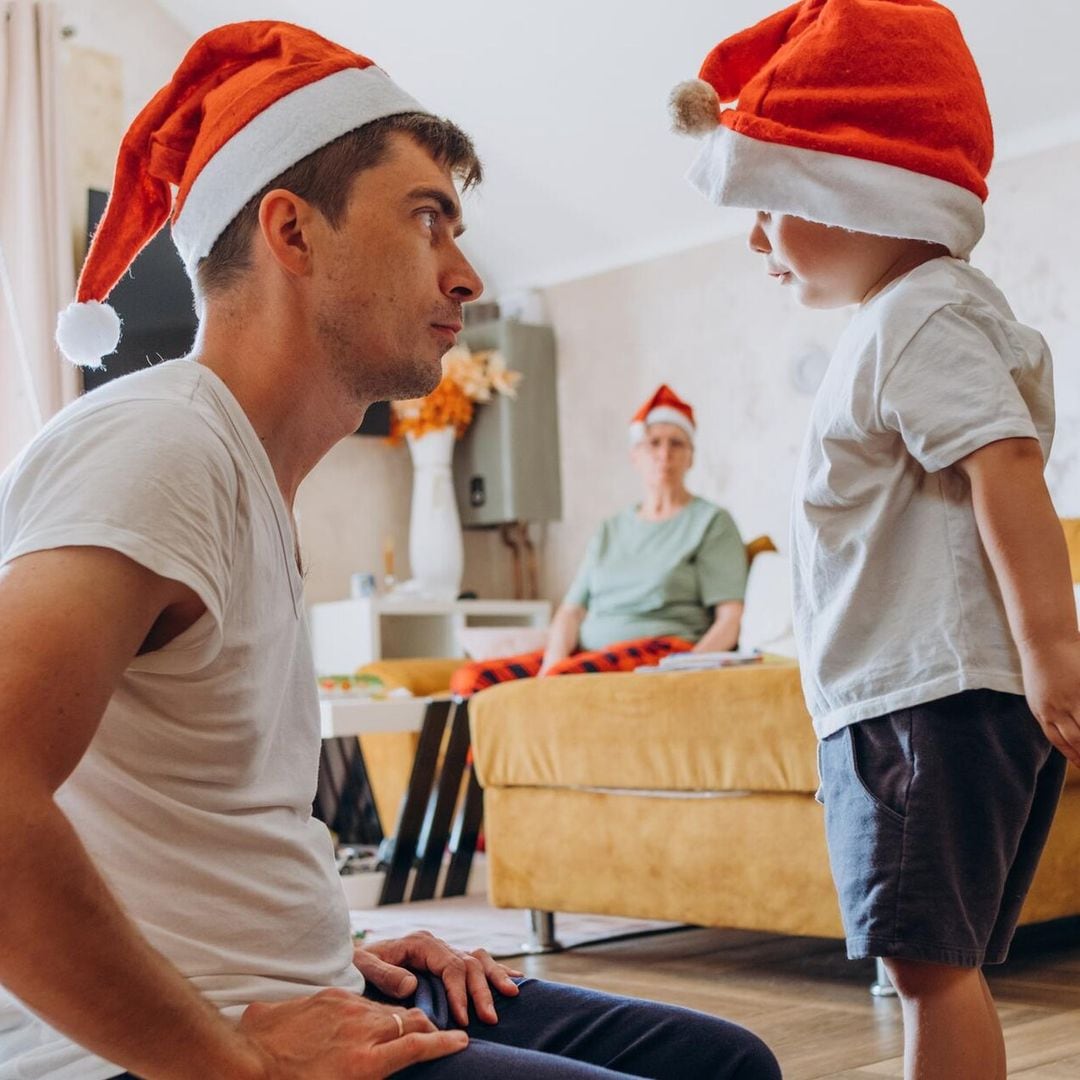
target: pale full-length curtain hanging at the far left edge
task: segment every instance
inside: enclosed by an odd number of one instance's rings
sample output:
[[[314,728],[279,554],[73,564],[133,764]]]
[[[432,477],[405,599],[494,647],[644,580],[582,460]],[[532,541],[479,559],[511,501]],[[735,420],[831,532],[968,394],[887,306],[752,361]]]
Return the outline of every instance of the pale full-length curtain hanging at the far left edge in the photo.
[[[73,293],[55,4],[0,2],[0,470],[79,392],[53,341]]]

